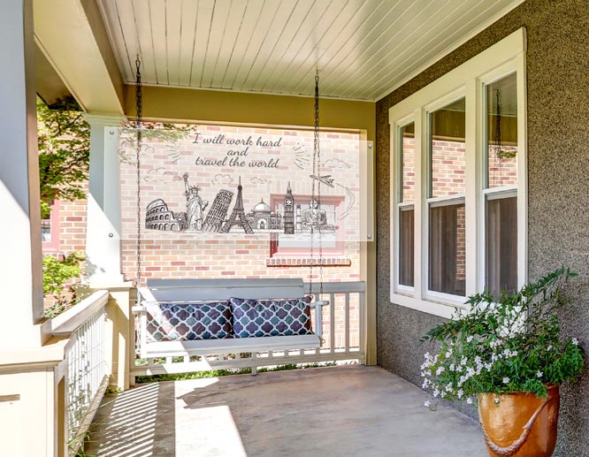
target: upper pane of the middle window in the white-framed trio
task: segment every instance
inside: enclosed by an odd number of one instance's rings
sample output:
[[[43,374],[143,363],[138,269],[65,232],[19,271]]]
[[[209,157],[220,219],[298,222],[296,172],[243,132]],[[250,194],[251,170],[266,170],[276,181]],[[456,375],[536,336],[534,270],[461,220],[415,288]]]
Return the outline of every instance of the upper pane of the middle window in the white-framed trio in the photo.
[[[461,98],[429,115],[430,197],[464,193],[464,112]]]

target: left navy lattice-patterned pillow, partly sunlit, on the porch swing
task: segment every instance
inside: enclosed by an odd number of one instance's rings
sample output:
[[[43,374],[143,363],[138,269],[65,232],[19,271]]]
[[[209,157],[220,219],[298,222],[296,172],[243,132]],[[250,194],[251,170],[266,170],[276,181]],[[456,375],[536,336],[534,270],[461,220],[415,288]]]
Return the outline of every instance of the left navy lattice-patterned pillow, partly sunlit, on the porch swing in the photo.
[[[147,305],[148,342],[223,339],[232,334],[228,301]]]

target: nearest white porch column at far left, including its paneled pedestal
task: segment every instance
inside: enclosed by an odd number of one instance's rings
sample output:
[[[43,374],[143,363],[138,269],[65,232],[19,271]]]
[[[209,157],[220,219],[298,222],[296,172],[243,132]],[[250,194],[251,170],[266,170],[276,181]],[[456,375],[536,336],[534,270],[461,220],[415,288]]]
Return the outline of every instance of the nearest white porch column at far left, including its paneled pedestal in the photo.
[[[42,250],[31,0],[0,14],[0,455],[57,455],[53,369],[42,346]],[[60,349],[60,350],[59,350]]]

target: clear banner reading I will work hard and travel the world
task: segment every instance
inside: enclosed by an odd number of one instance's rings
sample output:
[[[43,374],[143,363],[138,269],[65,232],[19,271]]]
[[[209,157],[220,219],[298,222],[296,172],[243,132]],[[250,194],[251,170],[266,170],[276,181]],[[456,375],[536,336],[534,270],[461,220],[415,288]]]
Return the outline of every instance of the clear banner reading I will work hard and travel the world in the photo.
[[[136,146],[136,132],[122,131],[124,167],[136,168]],[[137,194],[148,237],[271,233],[295,247],[321,236],[329,248],[337,239],[359,240],[362,158],[357,134],[322,133],[321,146],[313,173],[310,131],[150,128],[142,132],[139,187],[123,185]]]

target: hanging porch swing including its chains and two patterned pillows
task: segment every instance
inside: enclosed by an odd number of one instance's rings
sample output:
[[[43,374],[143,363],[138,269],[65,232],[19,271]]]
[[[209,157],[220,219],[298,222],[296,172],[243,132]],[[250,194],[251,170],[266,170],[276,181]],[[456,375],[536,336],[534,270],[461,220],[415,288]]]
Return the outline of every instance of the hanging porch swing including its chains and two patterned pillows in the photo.
[[[321,230],[310,225],[309,291],[302,279],[148,279],[141,286],[141,149],[142,81],[139,56],[136,65],[136,181],[137,181],[137,306],[138,353],[142,358],[199,356],[201,369],[232,367],[252,369],[275,364],[279,359],[259,358],[258,353],[314,349],[321,347],[322,309],[329,301],[323,294],[323,249]],[[320,176],[319,77],[315,78],[315,126],[313,175]],[[317,195],[316,195],[317,190]],[[320,205],[320,182],[313,179],[312,199]],[[320,208],[320,206],[318,207]],[[319,291],[313,290],[314,235],[318,232]],[[311,329],[315,310],[315,331]],[[287,316],[288,319],[284,318]],[[279,324],[277,324],[279,322]],[[223,356],[236,354],[233,363]],[[250,354],[242,358],[242,354]],[[209,361],[207,356],[218,356]],[[163,371],[167,372],[164,365]],[[186,370],[194,371],[195,363]],[[196,368],[199,369],[199,368]]]

